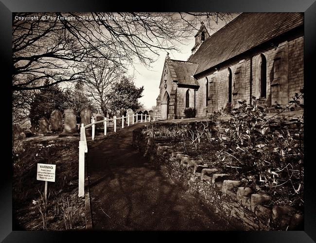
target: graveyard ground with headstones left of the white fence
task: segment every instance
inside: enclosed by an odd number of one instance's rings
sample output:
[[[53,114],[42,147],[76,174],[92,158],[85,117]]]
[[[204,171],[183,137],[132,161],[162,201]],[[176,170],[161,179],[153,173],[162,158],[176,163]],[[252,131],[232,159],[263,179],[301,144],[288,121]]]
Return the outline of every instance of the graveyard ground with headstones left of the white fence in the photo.
[[[143,111],[131,109],[123,114],[124,124],[148,121]],[[132,116],[134,115],[134,121]],[[96,121],[104,117],[94,114]],[[127,121],[128,118],[128,121]],[[21,131],[13,130],[13,208],[18,228],[26,230],[80,230],[87,227],[86,200],[78,196],[78,144],[81,125],[91,123],[93,117],[89,108],[80,111],[80,123],[77,123],[77,111],[73,108],[53,110],[50,119],[42,117],[38,126]],[[114,134],[114,122],[108,121],[107,138]],[[117,131],[122,129],[122,119],[115,121]],[[88,142],[91,139],[91,127],[86,129]],[[95,141],[104,139],[104,126],[95,127]],[[47,198],[44,196],[44,182],[36,180],[37,164],[56,165],[54,182],[48,182]],[[86,164],[87,166],[87,164]],[[86,172],[87,173],[87,172]],[[87,177],[87,174],[86,176]],[[89,200],[89,199],[88,199]],[[88,215],[88,217],[90,217]]]

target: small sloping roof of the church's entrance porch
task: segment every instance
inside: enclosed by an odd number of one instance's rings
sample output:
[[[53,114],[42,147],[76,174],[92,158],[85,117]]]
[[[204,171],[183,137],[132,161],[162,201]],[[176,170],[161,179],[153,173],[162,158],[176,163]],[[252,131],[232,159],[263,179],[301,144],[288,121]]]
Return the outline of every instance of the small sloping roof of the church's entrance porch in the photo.
[[[167,59],[168,67],[173,78],[178,85],[198,86],[193,74],[197,68],[197,63]]]

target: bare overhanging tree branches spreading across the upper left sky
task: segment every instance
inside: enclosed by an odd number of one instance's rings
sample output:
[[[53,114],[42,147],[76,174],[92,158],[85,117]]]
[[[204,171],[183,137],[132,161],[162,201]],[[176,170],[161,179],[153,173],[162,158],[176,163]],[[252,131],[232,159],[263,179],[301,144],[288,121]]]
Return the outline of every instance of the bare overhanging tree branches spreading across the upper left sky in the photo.
[[[15,13],[12,98],[19,110],[16,114],[27,111],[23,105],[27,106],[32,92],[26,91],[81,82],[89,69],[86,64],[93,60],[106,60],[122,69],[135,60],[150,66],[159,50],[177,50],[175,44],[191,37],[199,21],[211,28],[218,19],[230,17],[228,13]]]

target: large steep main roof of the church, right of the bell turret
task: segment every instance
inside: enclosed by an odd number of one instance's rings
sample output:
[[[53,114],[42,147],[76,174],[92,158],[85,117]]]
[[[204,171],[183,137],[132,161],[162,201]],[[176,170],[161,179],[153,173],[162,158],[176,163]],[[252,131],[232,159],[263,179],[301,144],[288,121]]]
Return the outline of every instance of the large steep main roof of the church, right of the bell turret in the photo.
[[[303,25],[302,13],[243,13],[207,38],[188,61],[195,74]]]

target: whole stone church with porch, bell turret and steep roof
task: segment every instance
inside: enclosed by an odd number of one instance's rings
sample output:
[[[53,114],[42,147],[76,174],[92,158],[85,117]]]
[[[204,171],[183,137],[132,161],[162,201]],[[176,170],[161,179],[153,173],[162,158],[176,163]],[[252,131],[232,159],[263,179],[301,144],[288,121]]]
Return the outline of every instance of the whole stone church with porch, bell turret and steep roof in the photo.
[[[287,105],[304,85],[302,13],[243,13],[210,35],[201,22],[187,61],[166,56],[155,120],[196,117],[238,101]]]

